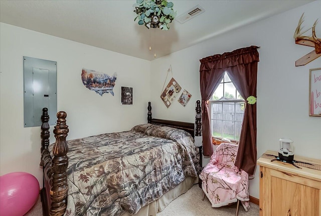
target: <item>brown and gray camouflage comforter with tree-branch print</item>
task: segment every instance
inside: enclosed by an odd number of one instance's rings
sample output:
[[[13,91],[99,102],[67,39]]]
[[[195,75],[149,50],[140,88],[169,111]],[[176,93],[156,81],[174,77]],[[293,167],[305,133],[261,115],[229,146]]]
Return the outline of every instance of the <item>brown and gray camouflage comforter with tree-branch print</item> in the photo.
[[[185,177],[197,176],[193,138],[169,127],[138,125],[71,140],[68,147],[65,215],[133,214]]]

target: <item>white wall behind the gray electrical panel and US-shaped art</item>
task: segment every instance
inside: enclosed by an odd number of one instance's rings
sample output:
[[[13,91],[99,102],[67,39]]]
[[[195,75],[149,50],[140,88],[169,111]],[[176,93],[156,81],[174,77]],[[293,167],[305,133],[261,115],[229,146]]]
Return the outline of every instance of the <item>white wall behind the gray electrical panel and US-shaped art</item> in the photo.
[[[24,128],[23,56],[57,61],[58,111],[67,112],[67,139],[129,130],[146,122],[149,61],[0,25],[0,175],[29,172],[42,187],[40,127]],[[100,96],[87,89],[81,81],[83,67],[109,75],[116,72],[115,95]],[[133,105],[120,105],[121,86],[133,87]]]

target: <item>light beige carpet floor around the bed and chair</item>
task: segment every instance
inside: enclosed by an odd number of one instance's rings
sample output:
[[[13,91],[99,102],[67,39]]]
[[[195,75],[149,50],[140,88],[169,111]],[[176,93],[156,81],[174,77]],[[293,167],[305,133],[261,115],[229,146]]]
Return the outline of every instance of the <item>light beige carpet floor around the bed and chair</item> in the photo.
[[[232,216],[236,212],[236,204],[228,207],[212,208],[207,197],[203,197],[203,190],[195,184],[190,190],[173,200],[162,212],[157,213],[157,216]],[[246,212],[240,204],[238,216],[257,216],[259,215],[259,206],[250,202],[250,209]],[[25,216],[41,216],[42,205],[40,197],[37,203],[33,206]]]

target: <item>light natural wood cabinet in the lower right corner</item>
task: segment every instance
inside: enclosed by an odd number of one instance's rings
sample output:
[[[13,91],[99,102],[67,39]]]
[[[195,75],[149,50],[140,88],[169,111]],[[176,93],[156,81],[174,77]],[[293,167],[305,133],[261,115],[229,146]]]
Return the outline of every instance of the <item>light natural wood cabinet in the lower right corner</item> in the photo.
[[[278,155],[267,151],[265,154]],[[294,160],[321,160],[294,155]],[[321,171],[260,157],[260,216],[321,216]],[[300,166],[301,167],[301,166]]]

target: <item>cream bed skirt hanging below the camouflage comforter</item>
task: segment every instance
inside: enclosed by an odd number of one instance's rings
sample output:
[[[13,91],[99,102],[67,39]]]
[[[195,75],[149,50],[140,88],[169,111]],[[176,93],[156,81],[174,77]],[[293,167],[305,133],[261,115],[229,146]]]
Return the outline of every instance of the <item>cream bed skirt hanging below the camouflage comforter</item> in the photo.
[[[198,177],[188,177],[172,190],[165,193],[159,199],[149,203],[148,205],[140,208],[136,214],[124,213],[121,216],[156,216],[157,212],[161,212],[170,204],[171,201],[176,199],[179,195],[186,193],[194,184],[199,182]]]

